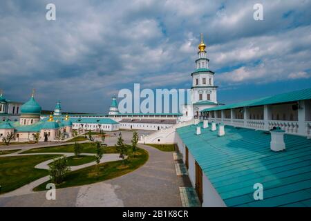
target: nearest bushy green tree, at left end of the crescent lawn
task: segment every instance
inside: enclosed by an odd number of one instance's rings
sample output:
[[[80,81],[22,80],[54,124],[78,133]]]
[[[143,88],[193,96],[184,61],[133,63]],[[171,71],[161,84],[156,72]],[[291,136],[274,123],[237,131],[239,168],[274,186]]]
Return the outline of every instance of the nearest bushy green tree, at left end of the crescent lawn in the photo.
[[[53,163],[48,165],[50,180],[55,184],[60,184],[63,182],[64,177],[70,171],[70,166],[68,166],[67,157],[62,157],[56,160],[53,160]]]

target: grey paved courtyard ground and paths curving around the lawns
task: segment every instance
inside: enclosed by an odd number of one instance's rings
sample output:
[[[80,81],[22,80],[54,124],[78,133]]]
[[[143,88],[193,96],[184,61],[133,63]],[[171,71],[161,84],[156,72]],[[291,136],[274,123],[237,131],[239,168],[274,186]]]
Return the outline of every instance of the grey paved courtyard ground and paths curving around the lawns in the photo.
[[[150,132],[138,133],[146,135]],[[117,134],[110,133],[110,135],[106,137],[105,143],[114,146]],[[132,135],[131,131],[122,131],[124,143],[130,144]],[[1,146],[0,150],[21,150],[10,154],[15,156],[41,146],[42,143],[11,145]],[[160,151],[143,144],[138,146],[148,151],[149,160],[131,173],[104,182],[57,189],[56,200],[46,200],[46,191],[33,192],[30,186],[22,186],[15,191],[1,194],[0,206],[182,206],[179,187],[191,184],[185,176],[176,175],[173,152]],[[113,161],[118,160],[117,158],[118,154],[104,154],[102,160]]]

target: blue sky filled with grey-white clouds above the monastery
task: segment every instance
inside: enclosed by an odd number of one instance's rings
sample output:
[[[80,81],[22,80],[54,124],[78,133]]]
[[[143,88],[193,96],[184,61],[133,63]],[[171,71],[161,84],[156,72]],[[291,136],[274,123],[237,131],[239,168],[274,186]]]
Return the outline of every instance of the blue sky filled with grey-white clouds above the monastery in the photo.
[[[56,21],[46,20],[46,5]],[[253,18],[263,4],[263,21]],[[311,1],[0,1],[0,88],[106,113],[122,88],[189,88],[200,33],[218,102],[311,87]]]

